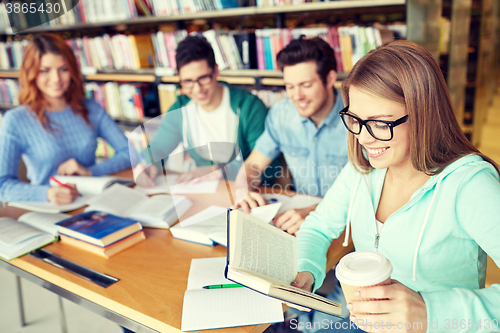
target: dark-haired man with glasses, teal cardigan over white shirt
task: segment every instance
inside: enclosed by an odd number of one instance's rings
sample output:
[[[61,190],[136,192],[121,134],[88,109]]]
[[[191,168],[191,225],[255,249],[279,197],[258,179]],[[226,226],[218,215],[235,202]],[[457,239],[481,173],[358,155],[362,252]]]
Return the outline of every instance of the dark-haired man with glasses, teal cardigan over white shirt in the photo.
[[[150,141],[150,152],[155,160],[165,159],[183,142],[196,168],[183,173],[177,182],[220,179],[218,164],[250,155],[264,131],[267,108],[248,90],[217,81],[214,51],[201,35],[188,36],[179,43],[176,64],[182,95]],[[226,168],[227,177],[235,178],[243,161],[238,163],[233,163],[236,167],[232,170]],[[150,177],[156,175],[158,167],[150,169]]]

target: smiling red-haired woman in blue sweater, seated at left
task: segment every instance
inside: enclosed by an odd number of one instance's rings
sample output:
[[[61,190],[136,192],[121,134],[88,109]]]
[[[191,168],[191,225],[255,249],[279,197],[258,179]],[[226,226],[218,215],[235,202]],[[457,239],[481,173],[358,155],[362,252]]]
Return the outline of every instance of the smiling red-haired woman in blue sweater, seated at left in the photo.
[[[0,201],[72,202],[77,190],[50,187],[52,175],[101,176],[130,168],[127,138],[96,102],[85,99],[75,56],[56,35],[34,36],[19,74],[19,102],[0,127]],[[116,155],[96,164],[96,139]],[[31,183],[19,180],[22,156]]]

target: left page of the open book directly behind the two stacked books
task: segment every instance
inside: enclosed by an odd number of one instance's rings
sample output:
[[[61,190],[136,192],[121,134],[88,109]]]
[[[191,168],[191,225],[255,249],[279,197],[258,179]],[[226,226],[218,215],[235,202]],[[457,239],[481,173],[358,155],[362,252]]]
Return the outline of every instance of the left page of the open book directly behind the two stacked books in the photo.
[[[130,187],[113,184],[101,194],[93,197],[85,211],[95,209],[119,216],[128,216],[135,207],[147,199],[145,194],[134,191]]]

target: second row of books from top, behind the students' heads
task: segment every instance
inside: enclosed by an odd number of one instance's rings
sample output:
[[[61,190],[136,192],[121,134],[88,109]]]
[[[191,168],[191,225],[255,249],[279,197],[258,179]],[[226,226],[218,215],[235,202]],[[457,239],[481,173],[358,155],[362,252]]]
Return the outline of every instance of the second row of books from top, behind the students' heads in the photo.
[[[277,70],[276,55],[300,36],[323,38],[334,49],[338,72],[348,72],[370,50],[386,41],[406,37],[405,25],[328,26],[296,29],[256,29],[201,33],[214,49],[220,70]],[[177,45],[188,35],[186,30],[158,31],[151,35],[104,34],[66,40],[82,68],[97,70],[176,69]],[[0,43],[0,69],[18,69],[27,41]]]

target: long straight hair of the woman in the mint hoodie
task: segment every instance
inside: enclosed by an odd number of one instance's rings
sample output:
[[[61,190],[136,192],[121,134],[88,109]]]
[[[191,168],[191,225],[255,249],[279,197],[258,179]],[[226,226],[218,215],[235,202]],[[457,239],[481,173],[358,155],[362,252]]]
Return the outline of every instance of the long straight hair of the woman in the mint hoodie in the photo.
[[[349,104],[349,88],[401,103],[410,126],[412,166],[427,175],[469,155],[480,155],[499,171],[498,165],[477,150],[463,134],[455,118],[441,70],[423,47],[404,40],[393,41],[369,52],[342,83]],[[348,133],[349,160],[360,172],[372,167],[354,134]]]

